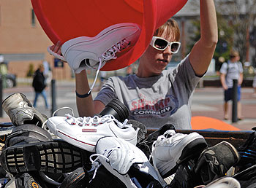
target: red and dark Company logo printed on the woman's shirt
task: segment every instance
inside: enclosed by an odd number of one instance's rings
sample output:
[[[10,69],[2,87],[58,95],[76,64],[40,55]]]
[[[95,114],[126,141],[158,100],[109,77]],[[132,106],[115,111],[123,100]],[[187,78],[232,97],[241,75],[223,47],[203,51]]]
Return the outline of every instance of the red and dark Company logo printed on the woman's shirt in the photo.
[[[159,98],[154,101],[148,101],[146,98],[141,97],[129,103],[129,109],[133,116],[167,117],[177,111],[178,99],[173,95],[167,95],[165,98]]]

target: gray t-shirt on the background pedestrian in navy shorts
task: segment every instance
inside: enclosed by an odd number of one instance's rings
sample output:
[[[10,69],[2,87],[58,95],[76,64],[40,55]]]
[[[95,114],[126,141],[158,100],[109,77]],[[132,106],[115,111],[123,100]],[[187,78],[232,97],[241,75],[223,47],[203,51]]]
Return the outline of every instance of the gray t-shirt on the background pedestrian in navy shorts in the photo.
[[[227,68],[228,66],[228,68]],[[230,60],[227,63],[223,63],[219,72],[226,74],[226,85],[228,88],[233,87],[233,79],[239,79],[241,73],[243,73],[243,65],[240,61],[232,63]]]

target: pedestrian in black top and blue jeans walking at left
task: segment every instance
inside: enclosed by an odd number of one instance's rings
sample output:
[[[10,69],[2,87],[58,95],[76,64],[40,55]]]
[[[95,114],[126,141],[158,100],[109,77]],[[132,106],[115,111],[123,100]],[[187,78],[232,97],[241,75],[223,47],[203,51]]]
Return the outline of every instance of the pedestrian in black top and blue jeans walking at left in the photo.
[[[48,102],[47,102],[47,95],[45,92],[45,76],[44,76],[45,67],[43,64],[40,64],[37,68],[37,71],[34,72],[34,78],[32,82],[32,86],[34,87],[34,108],[37,107],[37,98],[39,95],[42,95],[42,98],[44,98],[45,101],[45,109],[49,109]]]

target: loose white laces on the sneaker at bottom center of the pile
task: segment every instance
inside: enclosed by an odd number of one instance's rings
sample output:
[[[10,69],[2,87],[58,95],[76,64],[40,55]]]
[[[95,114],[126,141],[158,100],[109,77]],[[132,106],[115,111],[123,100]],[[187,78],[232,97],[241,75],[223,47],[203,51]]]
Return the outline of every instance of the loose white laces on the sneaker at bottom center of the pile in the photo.
[[[112,154],[113,151],[119,149],[119,147],[115,147],[115,148],[111,148],[111,149],[106,149],[105,152],[103,154],[91,154],[90,156],[90,160],[91,160],[91,171],[94,171],[94,176],[92,176],[91,180],[95,178],[97,170],[99,169],[99,167],[102,165],[101,162],[99,162],[99,157],[104,158],[107,162],[110,162],[110,160],[108,159],[108,157],[110,156],[110,154]],[[105,156],[107,154],[107,156]],[[94,160],[92,159],[92,157],[96,157]],[[91,182],[91,180],[89,182]]]

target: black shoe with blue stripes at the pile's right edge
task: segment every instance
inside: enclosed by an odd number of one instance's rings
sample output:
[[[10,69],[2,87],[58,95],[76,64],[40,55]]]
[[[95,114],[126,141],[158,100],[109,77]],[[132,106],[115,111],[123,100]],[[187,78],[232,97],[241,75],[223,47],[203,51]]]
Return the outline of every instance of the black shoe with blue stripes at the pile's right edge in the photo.
[[[256,165],[256,131],[253,131],[246,142],[238,147],[240,161],[237,166],[239,171],[244,171],[252,165]]]

